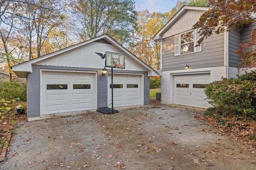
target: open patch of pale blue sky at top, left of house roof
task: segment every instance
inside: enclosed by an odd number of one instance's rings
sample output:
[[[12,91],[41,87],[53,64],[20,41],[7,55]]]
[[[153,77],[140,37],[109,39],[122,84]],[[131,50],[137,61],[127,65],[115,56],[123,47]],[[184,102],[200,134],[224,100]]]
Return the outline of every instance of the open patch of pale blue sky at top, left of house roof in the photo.
[[[177,0],[134,0],[134,1],[135,1],[135,8],[137,11],[148,10],[150,13],[168,12],[172,10],[174,6],[176,6],[176,2],[177,2]]]

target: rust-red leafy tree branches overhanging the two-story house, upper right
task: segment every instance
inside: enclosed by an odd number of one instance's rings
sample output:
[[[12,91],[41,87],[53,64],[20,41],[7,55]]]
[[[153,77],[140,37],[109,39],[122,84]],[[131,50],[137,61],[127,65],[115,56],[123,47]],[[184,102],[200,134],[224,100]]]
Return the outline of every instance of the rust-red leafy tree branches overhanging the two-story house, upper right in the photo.
[[[193,25],[193,29],[198,29],[202,36],[198,44],[212,34],[220,34],[232,29],[242,29],[243,25],[248,25],[256,21],[256,1],[255,0],[209,0],[209,10],[202,14],[200,20]],[[256,29],[251,33],[252,39],[246,44],[241,44],[242,48],[237,51],[241,54],[243,63],[247,66],[256,66]],[[250,48],[250,51],[245,49]]]

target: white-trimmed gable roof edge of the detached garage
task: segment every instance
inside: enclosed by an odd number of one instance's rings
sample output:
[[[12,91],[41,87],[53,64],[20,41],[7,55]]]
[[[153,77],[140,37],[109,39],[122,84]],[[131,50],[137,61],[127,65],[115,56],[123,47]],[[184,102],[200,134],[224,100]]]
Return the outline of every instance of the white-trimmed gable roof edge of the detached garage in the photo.
[[[76,45],[72,45],[70,47],[66,47],[64,49],[61,49],[61,50],[55,51],[53,53],[50,53],[50,54],[38,57],[36,59],[32,59],[30,61],[26,61],[24,63],[20,63],[20,64],[17,64],[17,65],[14,65],[14,66],[12,66],[12,70],[19,77],[26,77],[29,72],[32,72],[32,64],[35,64],[35,63],[37,63],[39,61],[42,61],[42,60],[48,59],[50,57],[54,57],[56,55],[65,53],[67,51],[76,49],[78,47],[81,47],[83,45],[86,45],[86,44],[89,44],[89,43],[92,43],[92,42],[100,42],[100,43],[106,43],[106,44],[114,45],[118,49],[128,53],[130,55],[130,57],[132,57],[136,62],[138,62],[139,64],[144,66],[149,71],[149,76],[158,76],[159,75],[158,72],[156,72],[153,68],[148,66],[146,63],[144,63],[142,60],[140,60],[138,57],[136,57],[134,54],[132,54],[130,51],[128,51],[128,49],[123,47],[121,44],[119,44],[117,41],[115,41],[112,37],[110,37],[107,34],[100,35],[98,37],[95,37],[95,38],[92,38],[90,40],[84,41],[82,43],[78,43]]]

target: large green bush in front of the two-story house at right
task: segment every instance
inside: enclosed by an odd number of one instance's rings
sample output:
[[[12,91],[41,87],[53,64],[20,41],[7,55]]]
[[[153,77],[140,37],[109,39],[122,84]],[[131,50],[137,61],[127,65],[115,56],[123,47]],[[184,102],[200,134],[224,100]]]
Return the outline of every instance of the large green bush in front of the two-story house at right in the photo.
[[[238,78],[222,78],[206,86],[205,94],[215,112],[225,116],[242,115],[256,119],[256,72]]]

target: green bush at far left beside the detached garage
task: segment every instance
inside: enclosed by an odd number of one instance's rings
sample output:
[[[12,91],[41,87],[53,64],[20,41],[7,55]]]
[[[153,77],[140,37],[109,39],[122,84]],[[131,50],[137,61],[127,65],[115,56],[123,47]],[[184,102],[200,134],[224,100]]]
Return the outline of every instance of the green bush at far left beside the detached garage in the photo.
[[[26,101],[26,84],[20,85],[17,82],[0,82],[0,99],[12,100],[20,98]]]

